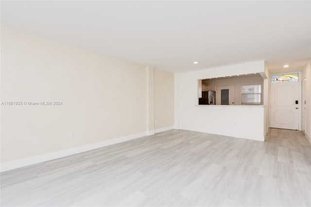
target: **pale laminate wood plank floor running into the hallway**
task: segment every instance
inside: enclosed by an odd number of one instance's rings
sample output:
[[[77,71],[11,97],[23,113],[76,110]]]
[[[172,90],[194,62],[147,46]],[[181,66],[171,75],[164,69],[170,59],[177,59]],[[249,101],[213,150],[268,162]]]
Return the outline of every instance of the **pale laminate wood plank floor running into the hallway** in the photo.
[[[311,206],[311,145],[170,130],[1,173],[1,206]]]

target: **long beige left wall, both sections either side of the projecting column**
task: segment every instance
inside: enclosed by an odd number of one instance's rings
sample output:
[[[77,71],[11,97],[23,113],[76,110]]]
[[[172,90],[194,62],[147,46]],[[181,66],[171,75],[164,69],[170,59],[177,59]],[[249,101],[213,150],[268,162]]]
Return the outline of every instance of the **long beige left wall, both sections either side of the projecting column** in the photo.
[[[147,131],[144,66],[1,28],[1,162]],[[173,74],[155,70],[156,127],[173,125]],[[73,138],[67,138],[69,132]]]

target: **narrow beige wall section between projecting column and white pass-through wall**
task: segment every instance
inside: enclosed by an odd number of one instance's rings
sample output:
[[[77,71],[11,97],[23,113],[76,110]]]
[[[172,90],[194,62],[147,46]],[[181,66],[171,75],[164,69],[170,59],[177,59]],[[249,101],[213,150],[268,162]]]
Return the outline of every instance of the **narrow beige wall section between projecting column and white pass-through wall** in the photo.
[[[174,74],[154,70],[155,129],[174,124]]]

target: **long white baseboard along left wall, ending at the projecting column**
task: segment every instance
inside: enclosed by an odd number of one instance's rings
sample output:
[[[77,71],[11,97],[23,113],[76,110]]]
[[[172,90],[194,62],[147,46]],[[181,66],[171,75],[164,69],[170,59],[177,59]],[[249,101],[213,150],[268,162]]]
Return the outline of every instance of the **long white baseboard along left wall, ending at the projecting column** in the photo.
[[[120,143],[123,141],[135,139],[135,138],[141,138],[141,137],[146,136],[147,134],[149,134],[149,133],[148,132],[141,132],[141,133],[134,134],[134,135],[124,136],[121,138],[108,139],[108,140],[105,140],[102,142],[87,144],[84,146],[74,147],[74,148],[61,150],[61,151],[57,151],[57,152],[53,152],[53,153],[31,156],[31,157],[27,157],[27,158],[23,158],[23,159],[17,159],[17,160],[10,161],[10,162],[3,162],[0,165],[0,172],[9,171],[9,170],[13,170],[16,168],[25,167],[28,165],[33,165],[36,163],[45,162],[45,161],[57,159],[57,158],[68,156],[68,155],[74,155],[74,154],[94,150],[97,148],[101,148],[101,147],[112,145],[112,144],[117,144],[117,143]]]

